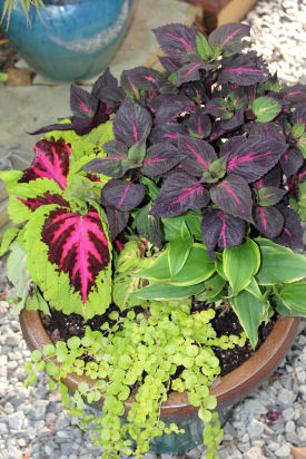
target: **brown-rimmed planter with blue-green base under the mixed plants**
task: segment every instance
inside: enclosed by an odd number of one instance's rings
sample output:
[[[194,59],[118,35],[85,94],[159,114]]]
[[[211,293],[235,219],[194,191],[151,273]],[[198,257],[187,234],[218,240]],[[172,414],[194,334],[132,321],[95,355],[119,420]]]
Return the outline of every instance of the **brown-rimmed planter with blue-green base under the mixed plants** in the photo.
[[[211,393],[217,397],[218,411],[221,417],[229,407],[246,397],[273,373],[290,348],[298,322],[298,318],[279,318],[264,344],[250,359],[226,377],[215,381]],[[20,314],[20,323],[24,340],[31,350],[42,351],[46,344],[51,343],[37,311],[23,310]],[[58,363],[56,359],[53,361]],[[89,384],[92,381],[87,377],[70,374],[63,382],[73,391],[85,380]],[[130,403],[131,400],[127,400],[127,410]],[[201,443],[203,423],[197,417],[197,408],[189,404],[187,393],[170,393],[161,408],[161,417],[167,423],[176,422],[179,428],[185,429],[185,433],[157,438],[151,445],[151,451],[178,452]]]

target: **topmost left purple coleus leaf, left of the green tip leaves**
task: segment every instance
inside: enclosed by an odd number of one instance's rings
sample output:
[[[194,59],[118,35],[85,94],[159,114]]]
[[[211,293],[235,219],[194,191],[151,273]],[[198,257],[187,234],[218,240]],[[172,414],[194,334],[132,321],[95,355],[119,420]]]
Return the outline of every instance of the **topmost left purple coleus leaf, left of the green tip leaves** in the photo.
[[[196,50],[197,30],[181,23],[169,23],[152,30],[166,55],[174,59],[185,59]]]

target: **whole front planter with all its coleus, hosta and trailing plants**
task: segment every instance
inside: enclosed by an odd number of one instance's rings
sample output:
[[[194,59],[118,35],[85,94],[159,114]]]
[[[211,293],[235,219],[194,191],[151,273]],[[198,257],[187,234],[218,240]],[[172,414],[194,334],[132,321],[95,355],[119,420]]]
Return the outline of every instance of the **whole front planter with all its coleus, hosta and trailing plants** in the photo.
[[[71,87],[72,117],[0,174],[18,224],[1,253],[27,385],[46,370],[103,458],[198,442],[216,458],[214,410],[263,382],[306,314],[305,87],[243,51],[245,25],[155,33],[165,72]],[[239,348],[256,352],[228,368]]]

